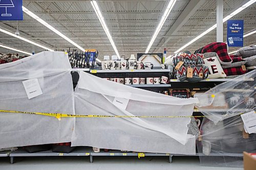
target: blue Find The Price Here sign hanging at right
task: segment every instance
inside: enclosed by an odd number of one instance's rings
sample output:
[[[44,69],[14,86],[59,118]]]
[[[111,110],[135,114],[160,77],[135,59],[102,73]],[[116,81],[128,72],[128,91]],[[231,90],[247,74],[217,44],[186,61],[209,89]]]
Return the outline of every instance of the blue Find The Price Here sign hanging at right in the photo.
[[[227,20],[228,46],[244,45],[244,20]]]

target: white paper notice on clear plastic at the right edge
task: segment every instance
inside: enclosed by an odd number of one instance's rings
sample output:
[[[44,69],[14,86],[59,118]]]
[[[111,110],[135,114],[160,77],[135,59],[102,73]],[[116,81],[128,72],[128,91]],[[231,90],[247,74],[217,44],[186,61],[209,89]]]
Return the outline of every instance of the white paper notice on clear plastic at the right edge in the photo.
[[[244,122],[244,129],[246,133],[255,133],[256,132],[256,113],[254,111],[241,114],[241,117]]]

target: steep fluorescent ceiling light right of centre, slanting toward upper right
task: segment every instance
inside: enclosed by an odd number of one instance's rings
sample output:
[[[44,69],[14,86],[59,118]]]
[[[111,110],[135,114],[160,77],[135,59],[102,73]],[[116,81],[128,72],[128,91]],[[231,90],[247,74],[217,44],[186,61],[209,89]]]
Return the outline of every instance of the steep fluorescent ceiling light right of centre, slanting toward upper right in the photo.
[[[145,53],[148,53],[148,51],[150,51],[151,46],[153,45],[158,33],[160,32],[161,28],[163,27],[163,24],[164,24],[165,20],[167,19],[170,11],[172,11],[175,3],[176,3],[176,0],[170,0],[166,10],[163,13],[163,16],[161,17],[161,20],[160,20],[160,22],[157,26],[157,29],[156,29],[155,33],[153,34],[153,37],[152,37],[150,43],[148,44],[148,46],[146,48]]]

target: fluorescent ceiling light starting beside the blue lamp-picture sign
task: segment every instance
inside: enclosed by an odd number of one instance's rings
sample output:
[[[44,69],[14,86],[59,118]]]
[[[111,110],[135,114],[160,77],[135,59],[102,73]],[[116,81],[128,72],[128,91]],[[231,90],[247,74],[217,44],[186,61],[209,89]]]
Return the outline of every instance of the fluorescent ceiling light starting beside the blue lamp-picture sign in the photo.
[[[46,26],[48,29],[52,30],[53,32],[55,32],[56,34],[58,34],[60,37],[66,39],[68,42],[70,42],[71,44],[73,44],[74,46],[76,46],[77,48],[79,48],[81,51],[85,52],[86,50],[84,48],[82,48],[80,45],[78,45],[77,43],[75,43],[74,41],[72,41],[70,38],[68,38],[67,36],[65,36],[64,34],[62,34],[61,32],[59,32],[58,30],[56,30],[55,28],[53,28],[51,25],[49,25],[49,23],[47,23],[46,21],[42,20],[39,16],[37,16],[36,14],[34,14],[33,12],[31,12],[30,10],[28,10],[26,7],[22,6],[22,10],[28,14],[29,16],[31,16],[32,18],[34,18],[35,20],[37,20],[38,22],[40,22],[42,25]],[[101,62],[99,59],[96,59],[97,61]]]

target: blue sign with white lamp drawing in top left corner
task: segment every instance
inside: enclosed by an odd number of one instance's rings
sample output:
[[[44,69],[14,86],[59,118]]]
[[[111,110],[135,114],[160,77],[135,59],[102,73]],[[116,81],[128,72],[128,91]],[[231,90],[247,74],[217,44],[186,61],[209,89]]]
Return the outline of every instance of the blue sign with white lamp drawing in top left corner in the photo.
[[[22,0],[0,0],[0,20],[23,20]]]

